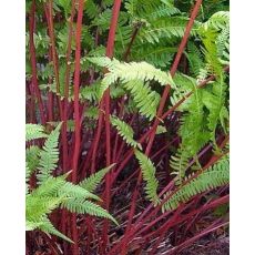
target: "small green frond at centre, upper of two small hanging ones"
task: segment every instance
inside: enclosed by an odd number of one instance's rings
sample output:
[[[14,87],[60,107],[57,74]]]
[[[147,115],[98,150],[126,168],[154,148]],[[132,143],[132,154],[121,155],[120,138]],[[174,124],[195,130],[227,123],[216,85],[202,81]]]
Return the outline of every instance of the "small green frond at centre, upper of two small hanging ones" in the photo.
[[[140,150],[142,150],[141,144],[137,143],[136,141],[134,141],[134,139],[133,139],[134,131],[129,124],[126,124],[124,121],[121,121],[116,116],[111,116],[111,123],[112,123],[113,126],[116,128],[118,133],[122,136],[122,139],[128,144],[130,144],[133,147],[139,147]]]

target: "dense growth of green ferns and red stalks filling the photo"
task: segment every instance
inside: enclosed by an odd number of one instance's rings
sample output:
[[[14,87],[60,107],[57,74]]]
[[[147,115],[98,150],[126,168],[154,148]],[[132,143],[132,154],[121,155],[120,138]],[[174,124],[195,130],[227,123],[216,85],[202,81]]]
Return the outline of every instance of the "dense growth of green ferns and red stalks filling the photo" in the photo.
[[[29,254],[175,254],[227,224],[228,7],[27,0],[27,228],[69,241]]]

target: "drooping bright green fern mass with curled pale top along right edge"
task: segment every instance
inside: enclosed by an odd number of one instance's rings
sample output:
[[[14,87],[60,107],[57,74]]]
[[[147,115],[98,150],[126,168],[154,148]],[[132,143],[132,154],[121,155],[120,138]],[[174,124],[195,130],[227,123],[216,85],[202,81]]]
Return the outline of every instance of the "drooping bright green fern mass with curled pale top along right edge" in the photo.
[[[216,130],[218,124],[227,133],[227,85],[226,75],[223,71],[221,57],[223,55],[222,45],[227,42],[226,31],[228,30],[228,13],[220,12],[213,14],[208,21],[201,24],[198,33],[203,42],[202,52],[194,58],[190,54],[192,72],[200,76],[200,72],[205,69],[206,73],[216,75],[211,88],[204,90],[197,89],[197,81],[191,76],[176,75],[175,83],[178,83],[176,91],[172,98],[172,102],[176,102],[183,94],[193,91],[193,94],[180,108],[182,112],[180,136],[182,139],[181,146],[170,161],[171,169],[177,174],[177,183],[181,183],[185,176],[188,162],[195,159],[197,167],[200,162],[197,153],[210,141],[213,142],[214,150],[220,153],[216,144]],[[218,42],[218,43],[215,43]],[[221,42],[221,43],[220,43]],[[197,48],[190,44],[194,53]],[[204,61],[202,60],[204,59]],[[203,64],[202,64],[203,63]]]

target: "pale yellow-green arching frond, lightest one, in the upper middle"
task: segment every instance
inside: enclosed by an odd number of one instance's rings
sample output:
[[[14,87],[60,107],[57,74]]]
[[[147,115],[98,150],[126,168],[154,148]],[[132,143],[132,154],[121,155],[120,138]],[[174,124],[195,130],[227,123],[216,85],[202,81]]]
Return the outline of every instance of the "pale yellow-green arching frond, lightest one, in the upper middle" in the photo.
[[[120,81],[132,94],[141,114],[150,120],[156,114],[160,94],[152,91],[146,81],[157,81],[161,85],[171,84],[174,86],[169,73],[155,69],[146,62],[121,63],[115,59],[110,60],[109,58],[88,58],[88,60],[109,70],[102,80],[101,95],[110,84]]]

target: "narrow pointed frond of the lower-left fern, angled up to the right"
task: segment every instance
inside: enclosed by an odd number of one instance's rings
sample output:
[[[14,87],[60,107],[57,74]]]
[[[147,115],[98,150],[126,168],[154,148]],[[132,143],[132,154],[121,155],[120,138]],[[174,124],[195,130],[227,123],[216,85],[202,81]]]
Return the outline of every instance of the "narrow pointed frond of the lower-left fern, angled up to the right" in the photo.
[[[90,175],[88,178],[84,178],[79,183],[79,185],[85,188],[89,192],[94,192],[96,186],[102,182],[103,177],[106,173],[114,166],[115,164],[111,164],[110,166],[98,171],[96,173]]]

